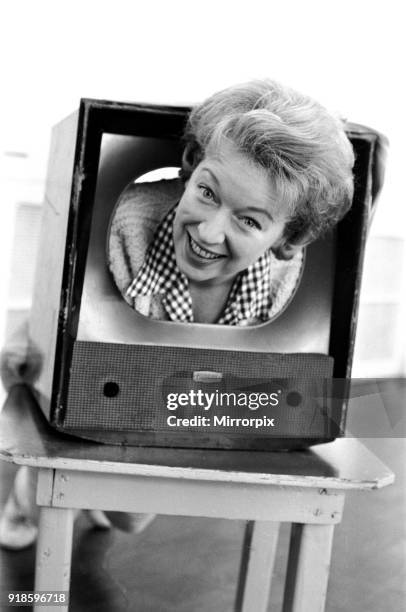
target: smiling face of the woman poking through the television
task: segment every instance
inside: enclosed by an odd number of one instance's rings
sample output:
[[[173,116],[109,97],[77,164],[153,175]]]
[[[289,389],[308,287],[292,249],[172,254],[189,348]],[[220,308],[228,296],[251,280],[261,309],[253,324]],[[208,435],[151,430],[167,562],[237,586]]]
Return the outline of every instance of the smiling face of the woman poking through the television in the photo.
[[[178,267],[195,283],[230,283],[276,245],[287,220],[265,170],[223,142],[193,171],[180,200]]]

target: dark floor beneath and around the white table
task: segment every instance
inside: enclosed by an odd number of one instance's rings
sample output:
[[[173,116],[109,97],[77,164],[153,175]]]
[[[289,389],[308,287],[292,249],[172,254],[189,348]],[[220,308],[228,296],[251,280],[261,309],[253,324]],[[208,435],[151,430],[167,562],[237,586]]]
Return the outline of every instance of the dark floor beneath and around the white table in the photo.
[[[391,397],[404,406],[406,385],[398,384]],[[350,415],[353,431],[360,417],[362,413]],[[395,472],[396,483],[348,495],[335,533],[326,612],[406,609],[406,440],[363,441]],[[14,471],[14,466],[0,463],[1,504]],[[231,612],[243,530],[238,521],[162,516],[144,533],[129,536],[95,530],[82,515],[75,525],[70,610]],[[281,610],[288,536],[284,524],[269,612]],[[1,592],[33,588],[34,555],[33,548],[0,551]]]

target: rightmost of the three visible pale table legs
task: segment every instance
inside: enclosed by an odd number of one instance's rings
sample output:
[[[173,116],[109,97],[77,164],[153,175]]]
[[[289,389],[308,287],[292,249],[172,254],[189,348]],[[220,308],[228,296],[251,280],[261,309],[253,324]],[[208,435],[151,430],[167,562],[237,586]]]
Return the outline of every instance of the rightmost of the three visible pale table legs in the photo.
[[[283,612],[323,612],[334,525],[292,525]]]

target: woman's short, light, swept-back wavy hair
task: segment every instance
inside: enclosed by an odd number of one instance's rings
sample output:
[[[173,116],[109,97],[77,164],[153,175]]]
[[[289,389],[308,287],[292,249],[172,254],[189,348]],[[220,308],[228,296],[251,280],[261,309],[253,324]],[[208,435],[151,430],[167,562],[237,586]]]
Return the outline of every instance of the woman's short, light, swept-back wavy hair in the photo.
[[[182,177],[223,138],[262,168],[290,217],[274,249],[281,259],[333,227],[353,196],[354,154],[343,123],[321,104],[271,80],[220,91],[191,111]]]

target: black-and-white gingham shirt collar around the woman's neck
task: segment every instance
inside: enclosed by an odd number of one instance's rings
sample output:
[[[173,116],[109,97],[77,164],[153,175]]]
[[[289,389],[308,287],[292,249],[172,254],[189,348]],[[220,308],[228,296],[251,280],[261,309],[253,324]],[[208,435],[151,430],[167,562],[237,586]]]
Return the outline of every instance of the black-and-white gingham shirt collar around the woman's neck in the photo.
[[[192,298],[187,277],[179,270],[173,242],[176,205],[159,225],[148,248],[144,263],[127,295],[162,295],[163,306],[171,321],[193,322]],[[222,325],[241,325],[249,319],[267,321],[272,306],[271,254],[266,251],[235,279],[226,307],[217,321]]]

